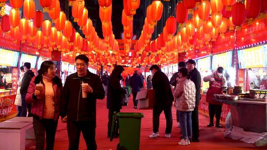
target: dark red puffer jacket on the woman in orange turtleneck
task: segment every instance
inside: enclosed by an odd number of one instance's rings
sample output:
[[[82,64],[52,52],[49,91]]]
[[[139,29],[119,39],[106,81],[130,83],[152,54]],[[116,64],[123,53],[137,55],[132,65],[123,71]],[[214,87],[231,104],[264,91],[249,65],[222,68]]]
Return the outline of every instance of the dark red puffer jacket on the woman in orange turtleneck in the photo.
[[[42,99],[37,99],[36,96],[34,95],[36,87],[35,78],[36,76],[34,76],[30,82],[26,95],[26,102],[32,104],[31,113],[42,118],[45,106],[45,95],[43,96]],[[57,120],[59,118],[59,104],[60,104],[62,88],[58,88],[56,84],[53,84],[53,90],[54,90],[54,107],[55,107],[54,120]]]

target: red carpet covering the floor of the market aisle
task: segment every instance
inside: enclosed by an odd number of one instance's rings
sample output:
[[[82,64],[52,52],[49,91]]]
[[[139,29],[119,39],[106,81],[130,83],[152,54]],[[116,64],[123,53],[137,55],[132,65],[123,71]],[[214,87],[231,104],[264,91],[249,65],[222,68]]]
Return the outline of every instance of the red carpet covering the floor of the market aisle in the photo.
[[[132,97],[131,97],[132,98]],[[96,142],[98,150],[116,150],[119,139],[114,139],[112,142],[107,138],[107,122],[108,110],[106,109],[106,99],[97,101],[97,127],[96,127]],[[140,150],[267,150],[267,147],[257,148],[253,144],[247,144],[241,141],[224,138],[224,129],[215,127],[206,127],[209,122],[207,116],[199,114],[200,125],[200,142],[191,143],[190,146],[179,146],[180,130],[176,126],[176,110],[173,108],[173,131],[172,137],[167,139],[164,137],[166,121],[164,113],[160,117],[160,137],[150,139],[148,137],[152,132],[152,110],[135,110],[133,108],[133,101],[123,107],[121,112],[142,112],[145,117],[141,122],[141,137],[140,137]],[[35,144],[32,143],[28,150],[34,150]],[[66,124],[59,122],[55,137],[54,150],[67,150],[68,149],[68,135]],[[86,143],[81,134],[80,150],[86,150]]]

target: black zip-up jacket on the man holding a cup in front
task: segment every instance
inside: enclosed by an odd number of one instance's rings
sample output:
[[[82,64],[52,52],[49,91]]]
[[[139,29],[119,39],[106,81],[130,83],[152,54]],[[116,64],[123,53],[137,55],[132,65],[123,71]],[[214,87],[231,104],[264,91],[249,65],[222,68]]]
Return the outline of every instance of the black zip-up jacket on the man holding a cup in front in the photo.
[[[93,89],[92,93],[88,93],[87,98],[82,97],[82,81],[88,83]],[[77,73],[69,75],[66,78],[62,96],[61,117],[68,115],[67,119],[72,121],[95,121],[96,99],[103,99],[105,91],[99,76],[87,71],[83,79],[79,78]]]

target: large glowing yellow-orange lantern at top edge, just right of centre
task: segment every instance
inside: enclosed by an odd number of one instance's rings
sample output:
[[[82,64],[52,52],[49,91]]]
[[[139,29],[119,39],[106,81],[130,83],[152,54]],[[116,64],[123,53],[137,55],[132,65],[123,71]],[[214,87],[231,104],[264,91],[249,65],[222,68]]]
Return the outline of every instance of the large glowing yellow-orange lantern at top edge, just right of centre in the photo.
[[[153,20],[154,25],[160,20],[163,11],[163,4],[160,0],[154,0],[151,4],[150,17]]]

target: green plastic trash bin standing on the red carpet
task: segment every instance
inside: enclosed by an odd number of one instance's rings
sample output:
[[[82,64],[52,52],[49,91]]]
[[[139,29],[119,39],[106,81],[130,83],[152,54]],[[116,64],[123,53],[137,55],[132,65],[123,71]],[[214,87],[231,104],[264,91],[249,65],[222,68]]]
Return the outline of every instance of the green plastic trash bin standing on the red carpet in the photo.
[[[125,148],[126,150],[139,150],[141,118],[144,117],[143,113],[119,112],[115,115],[119,120],[119,146]],[[112,123],[112,130],[114,129],[114,125],[115,123]]]

